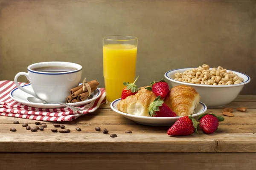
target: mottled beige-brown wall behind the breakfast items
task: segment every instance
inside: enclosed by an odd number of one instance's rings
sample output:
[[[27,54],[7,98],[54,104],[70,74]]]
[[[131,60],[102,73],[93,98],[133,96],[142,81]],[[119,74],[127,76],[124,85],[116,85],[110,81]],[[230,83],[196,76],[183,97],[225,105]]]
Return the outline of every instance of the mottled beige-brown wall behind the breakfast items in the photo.
[[[256,95],[256,0],[0,0],[0,80],[35,62],[69,61],[102,75],[102,37],[139,38],[139,86],[209,64],[248,74]],[[26,81],[25,77],[19,79]]]

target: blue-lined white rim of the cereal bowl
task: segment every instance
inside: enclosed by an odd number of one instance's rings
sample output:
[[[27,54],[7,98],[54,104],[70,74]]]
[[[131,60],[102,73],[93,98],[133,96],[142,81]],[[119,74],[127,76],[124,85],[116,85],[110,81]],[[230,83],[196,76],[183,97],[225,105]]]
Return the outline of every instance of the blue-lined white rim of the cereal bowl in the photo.
[[[194,68],[194,67],[192,67],[192,68]],[[175,72],[175,73],[177,73],[177,71],[178,70],[183,70],[183,69],[186,69],[186,70],[190,70],[190,69],[192,69],[192,68],[177,68],[177,69],[174,69],[174,70],[170,70],[170,71],[167,71],[165,74],[164,74],[164,77],[166,77],[166,79],[168,79],[168,80],[170,80],[170,81],[172,81],[172,82],[176,82],[176,83],[180,83],[180,84],[183,84],[183,85],[193,85],[193,86],[200,86],[200,87],[215,87],[215,88],[227,88],[227,87],[236,87],[236,86],[240,86],[240,85],[245,85],[245,84],[247,84],[248,82],[250,82],[250,77],[248,76],[248,75],[246,75],[246,74],[244,74],[244,73],[241,73],[241,72],[238,72],[238,71],[233,71],[233,73],[235,73],[235,74],[237,74],[237,73],[239,73],[239,74],[242,74],[242,75],[244,75],[245,77],[247,77],[247,80],[246,81],[244,81],[244,82],[241,82],[241,83],[239,83],[239,84],[235,84],[235,85],[198,85],[198,84],[192,84],[192,83],[188,83],[188,82],[180,82],[180,81],[177,81],[177,80],[175,80],[175,79],[173,79],[173,78],[171,78],[171,77],[169,77],[168,76],[168,74],[170,73],[170,72]],[[210,68],[210,69],[212,69],[212,68]],[[232,71],[232,70],[227,70],[227,71]],[[174,73],[174,74],[175,74]],[[181,72],[180,72],[181,73]]]

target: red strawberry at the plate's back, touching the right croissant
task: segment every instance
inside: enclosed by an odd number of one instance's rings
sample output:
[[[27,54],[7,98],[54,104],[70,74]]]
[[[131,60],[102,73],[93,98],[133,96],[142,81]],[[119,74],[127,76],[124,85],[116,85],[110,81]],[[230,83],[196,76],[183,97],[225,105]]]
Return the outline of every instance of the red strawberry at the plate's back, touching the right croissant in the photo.
[[[164,79],[161,79],[159,82],[153,81],[150,84],[151,87],[145,89],[152,91],[156,96],[161,96],[161,99],[169,92],[169,85]]]

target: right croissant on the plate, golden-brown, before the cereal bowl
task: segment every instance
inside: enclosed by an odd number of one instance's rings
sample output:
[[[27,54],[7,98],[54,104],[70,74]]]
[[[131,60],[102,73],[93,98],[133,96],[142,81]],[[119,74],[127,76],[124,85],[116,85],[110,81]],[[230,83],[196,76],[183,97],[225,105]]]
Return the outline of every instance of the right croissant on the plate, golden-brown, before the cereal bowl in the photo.
[[[187,85],[173,87],[164,99],[164,103],[174,111],[177,116],[193,114],[200,101],[200,96],[195,88]]]

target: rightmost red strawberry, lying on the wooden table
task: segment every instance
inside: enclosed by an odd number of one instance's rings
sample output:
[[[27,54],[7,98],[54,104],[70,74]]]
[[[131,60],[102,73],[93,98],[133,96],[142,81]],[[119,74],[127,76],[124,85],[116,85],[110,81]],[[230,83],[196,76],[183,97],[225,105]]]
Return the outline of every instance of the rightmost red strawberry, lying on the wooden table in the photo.
[[[199,116],[198,120],[200,120],[200,129],[204,133],[210,134],[217,130],[218,122],[224,121],[224,117],[216,116],[212,113],[204,113]]]

